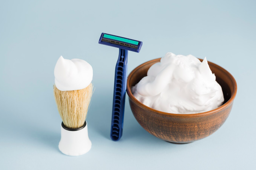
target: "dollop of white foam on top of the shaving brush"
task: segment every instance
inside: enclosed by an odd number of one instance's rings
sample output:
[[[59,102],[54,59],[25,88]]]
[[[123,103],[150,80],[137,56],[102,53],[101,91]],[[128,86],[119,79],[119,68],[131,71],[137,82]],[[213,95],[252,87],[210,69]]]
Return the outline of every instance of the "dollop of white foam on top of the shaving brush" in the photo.
[[[81,90],[93,80],[93,68],[82,59],[58,59],[55,68],[55,86],[61,91]]]

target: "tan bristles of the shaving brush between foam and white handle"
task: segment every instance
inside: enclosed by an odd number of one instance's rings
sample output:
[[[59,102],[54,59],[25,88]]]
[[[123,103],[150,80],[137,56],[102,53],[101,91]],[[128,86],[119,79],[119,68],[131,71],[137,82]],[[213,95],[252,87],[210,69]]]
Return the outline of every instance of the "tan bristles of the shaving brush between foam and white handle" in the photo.
[[[82,127],[93,95],[93,84],[72,91],[60,91],[54,84],[53,93],[64,125],[68,128]]]

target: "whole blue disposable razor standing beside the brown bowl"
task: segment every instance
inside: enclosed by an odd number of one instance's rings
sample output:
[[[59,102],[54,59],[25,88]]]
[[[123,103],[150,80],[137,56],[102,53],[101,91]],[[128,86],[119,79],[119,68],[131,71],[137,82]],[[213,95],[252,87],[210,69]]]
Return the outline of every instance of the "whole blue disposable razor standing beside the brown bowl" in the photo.
[[[127,82],[128,51],[139,52],[142,42],[101,33],[99,44],[119,48],[117,64],[115,65],[114,95],[110,137],[118,141],[123,134],[125,92]]]

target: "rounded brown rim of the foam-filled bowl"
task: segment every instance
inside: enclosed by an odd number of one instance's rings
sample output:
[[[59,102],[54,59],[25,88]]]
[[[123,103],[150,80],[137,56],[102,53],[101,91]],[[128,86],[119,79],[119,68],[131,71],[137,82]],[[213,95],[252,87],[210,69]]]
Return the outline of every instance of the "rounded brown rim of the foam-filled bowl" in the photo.
[[[190,113],[190,114],[180,114],[180,113],[167,113],[167,112],[161,112],[161,111],[157,111],[153,108],[150,108],[146,105],[144,105],[143,103],[141,103],[140,101],[138,101],[132,94],[131,92],[131,87],[129,86],[130,84],[130,79],[131,79],[131,76],[140,68],[144,67],[144,65],[147,65],[149,63],[153,63],[153,62],[156,62],[156,61],[160,61],[161,58],[156,58],[156,59],[152,59],[150,61],[147,61],[141,65],[139,65],[138,67],[136,67],[135,69],[133,69],[131,71],[131,73],[129,74],[129,76],[127,77],[127,88],[126,88],[126,92],[127,92],[127,95],[129,96],[129,99],[132,100],[133,102],[135,102],[139,107],[143,108],[143,109],[146,109],[146,110],[149,110],[155,114],[158,114],[160,116],[165,116],[165,117],[178,117],[178,118],[189,118],[189,117],[201,117],[201,116],[206,116],[206,115],[211,115],[211,114],[215,114],[217,112],[220,112],[222,110],[224,110],[225,108],[227,108],[229,105],[231,105],[231,103],[234,101],[235,97],[236,97],[236,94],[237,94],[237,82],[236,80],[234,79],[234,77],[227,71],[225,70],[224,68],[220,67],[219,65],[213,63],[213,62],[209,62],[210,64],[213,64],[215,67],[218,67],[221,71],[225,72],[231,79],[232,83],[233,83],[233,88],[234,88],[234,92],[231,94],[231,97],[230,99],[224,103],[224,105],[221,105],[220,107],[216,108],[216,109],[213,109],[211,111],[207,111],[207,112],[202,112],[202,113]],[[198,58],[200,59],[200,58]],[[202,60],[202,59],[200,59]]]

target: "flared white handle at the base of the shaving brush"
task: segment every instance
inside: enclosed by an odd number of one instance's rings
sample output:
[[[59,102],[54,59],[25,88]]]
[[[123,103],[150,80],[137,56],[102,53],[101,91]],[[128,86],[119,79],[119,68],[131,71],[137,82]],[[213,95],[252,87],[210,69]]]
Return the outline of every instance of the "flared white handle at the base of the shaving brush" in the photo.
[[[86,126],[78,131],[69,131],[61,126],[59,150],[69,156],[79,156],[87,153],[91,149],[87,126],[86,122]]]

